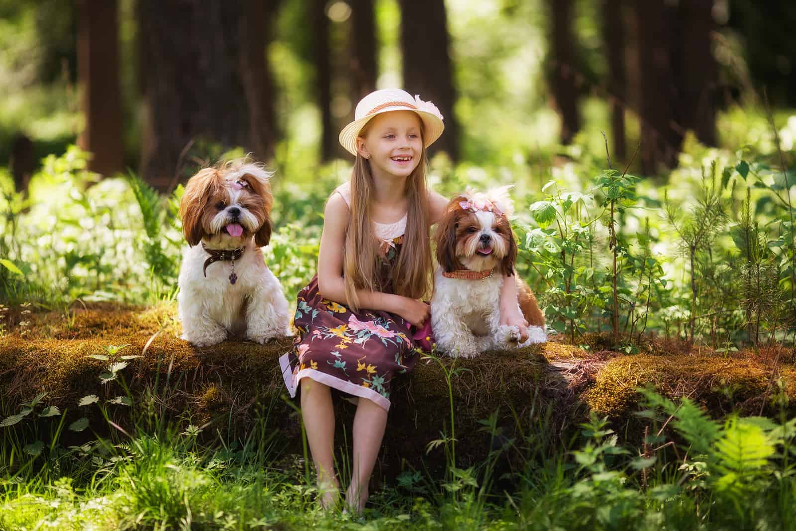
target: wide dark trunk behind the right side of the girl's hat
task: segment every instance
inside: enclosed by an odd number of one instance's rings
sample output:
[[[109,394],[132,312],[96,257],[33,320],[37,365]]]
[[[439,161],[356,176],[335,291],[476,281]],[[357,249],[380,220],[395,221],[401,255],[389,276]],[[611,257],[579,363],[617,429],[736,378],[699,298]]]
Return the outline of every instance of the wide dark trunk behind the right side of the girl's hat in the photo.
[[[433,102],[445,118],[445,133],[431,152],[458,157],[458,123],[453,113],[456,91],[449,52],[444,0],[400,0],[400,43],[403,52],[404,89]]]

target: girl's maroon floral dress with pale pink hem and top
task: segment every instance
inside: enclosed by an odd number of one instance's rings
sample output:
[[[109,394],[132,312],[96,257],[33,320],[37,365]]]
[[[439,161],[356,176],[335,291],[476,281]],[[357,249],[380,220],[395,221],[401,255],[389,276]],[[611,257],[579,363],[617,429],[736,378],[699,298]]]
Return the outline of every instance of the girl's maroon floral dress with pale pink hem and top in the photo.
[[[349,183],[335,192],[350,204]],[[405,229],[405,215],[397,223],[374,222],[382,242],[384,291],[391,290],[389,271],[401,252]],[[392,378],[412,370],[419,352],[408,321],[384,311],[354,313],[323,298],[318,275],[298,293],[293,324],[298,330],[293,350],[279,358],[291,397],[302,378],[311,378],[389,409]]]

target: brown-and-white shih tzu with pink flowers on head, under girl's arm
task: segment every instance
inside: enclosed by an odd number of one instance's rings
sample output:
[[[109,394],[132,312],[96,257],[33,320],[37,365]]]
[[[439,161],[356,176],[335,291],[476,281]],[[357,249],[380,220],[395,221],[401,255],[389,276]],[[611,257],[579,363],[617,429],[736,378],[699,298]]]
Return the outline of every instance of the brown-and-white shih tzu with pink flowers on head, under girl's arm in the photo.
[[[431,328],[436,346],[452,357],[544,343],[544,315],[536,297],[517,278],[517,298],[528,321],[529,339],[520,345],[517,327],[500,324],[503,277],[514,274],[517,243],[509,216],[509,187],[466,193],[448,203],[435,234],[437,262]]]

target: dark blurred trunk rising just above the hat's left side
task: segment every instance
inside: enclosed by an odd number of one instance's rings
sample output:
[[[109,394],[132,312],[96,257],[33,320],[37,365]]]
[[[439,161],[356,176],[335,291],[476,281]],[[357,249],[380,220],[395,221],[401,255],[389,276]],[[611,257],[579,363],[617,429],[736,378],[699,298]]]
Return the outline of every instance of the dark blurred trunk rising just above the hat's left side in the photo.
[[[351,48],[351,101],[353,105],[376,90],[377,50],[376,15],[373,0],[351,0],[353,41]]]

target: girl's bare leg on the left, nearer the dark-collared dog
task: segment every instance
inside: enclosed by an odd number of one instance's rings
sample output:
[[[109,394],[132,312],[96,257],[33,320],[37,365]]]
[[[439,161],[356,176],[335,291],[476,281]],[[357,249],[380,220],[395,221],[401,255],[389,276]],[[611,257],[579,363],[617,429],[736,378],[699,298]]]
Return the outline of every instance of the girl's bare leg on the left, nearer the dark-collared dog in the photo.
[[[311,378],[301,380],[301,413],[306,440],[318,474],[318,500],[324,509],[338,501],[340,485],[334,475],[334,406],[329,386]]]

